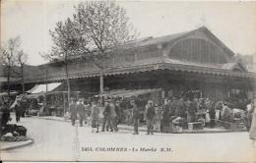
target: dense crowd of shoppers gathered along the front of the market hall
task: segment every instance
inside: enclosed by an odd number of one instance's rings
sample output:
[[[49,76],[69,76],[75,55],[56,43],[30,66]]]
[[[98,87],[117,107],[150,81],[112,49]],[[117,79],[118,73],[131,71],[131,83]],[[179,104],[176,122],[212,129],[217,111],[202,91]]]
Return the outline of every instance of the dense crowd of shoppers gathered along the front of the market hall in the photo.
[[[161,133],[175,133],[177,130],[188,129],[189,123],[201,123],[203,127],[214,128],[224,126],[230,128],[235,117],[244,121],[246,128],[251,126],[253,107],[248,101],[245,112],[228,107],[224,101],[212,101],[209,98],[164,98],[160,102],[142,100],[137,97],[129,99],[106,98],[86,102],[72,99],[70,104],[70,118],[72,125],[79,119],[80,126],[84,122],[92,125],[93,132],[117,132],[118,124],[134,126],[134,135],[139,134],[140,124],[146,124],[147,135],[154,135],[154,131]],[[243,114],[242,114],[243,113]]]

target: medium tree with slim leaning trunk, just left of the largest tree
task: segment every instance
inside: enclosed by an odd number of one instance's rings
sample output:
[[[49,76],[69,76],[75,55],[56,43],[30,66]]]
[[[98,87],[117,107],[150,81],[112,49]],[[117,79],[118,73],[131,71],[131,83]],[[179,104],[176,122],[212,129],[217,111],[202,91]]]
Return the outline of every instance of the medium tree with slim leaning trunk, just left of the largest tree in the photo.
[[[42,57],[50,62],[58,62],[64,65],[66,83],[68,89],[68,102],[70,102],[70,81],[69,81],[69,63],[76,55],[79,47],[78,33],[75,31],[74,24],[70,18],[64,22],[58,22],[54,30],[50,30],[53,40],[51,52],[42,54]]]

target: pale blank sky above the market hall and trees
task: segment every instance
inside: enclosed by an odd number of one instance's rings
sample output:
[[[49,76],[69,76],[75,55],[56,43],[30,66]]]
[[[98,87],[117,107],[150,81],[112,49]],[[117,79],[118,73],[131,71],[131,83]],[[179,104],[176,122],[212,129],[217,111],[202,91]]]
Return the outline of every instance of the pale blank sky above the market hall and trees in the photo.
[[[80,1],[1,1],[1,44],[17,35],[29,55],[28,64],[44,61],[40,53],[52,45],[49,29],[72,17]],[[256,2],[117,1],[126,9],[139,37],[161,36],[208,27],[234,53],[256,54]]]

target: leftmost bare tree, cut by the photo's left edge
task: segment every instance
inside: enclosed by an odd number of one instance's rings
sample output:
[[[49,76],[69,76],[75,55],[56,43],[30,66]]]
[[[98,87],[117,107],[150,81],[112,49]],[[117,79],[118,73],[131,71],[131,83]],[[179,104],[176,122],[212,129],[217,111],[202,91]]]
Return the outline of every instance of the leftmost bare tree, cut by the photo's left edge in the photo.
[[[5,72],[7,75],[7,89],[8,96],[10,97],[10,79],[12,77],[13,67],[15,66],[15,56],[21,45],[19,36],[10,38],[5,47],[1,47],[1,60],[5,65]]]

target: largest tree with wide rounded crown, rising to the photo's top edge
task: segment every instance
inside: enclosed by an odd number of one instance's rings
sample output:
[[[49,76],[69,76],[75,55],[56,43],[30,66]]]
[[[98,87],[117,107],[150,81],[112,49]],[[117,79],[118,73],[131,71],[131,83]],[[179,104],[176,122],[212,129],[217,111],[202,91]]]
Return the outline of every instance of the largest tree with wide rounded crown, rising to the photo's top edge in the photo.
[[[113,1],[81,2],[76,7],[74,24],[81,39],[80,51],[99,68],[99,93],[103,93],[103,70],[109,67],[109,51],[135,39],[136,30],[129,23],[125,9]]]

